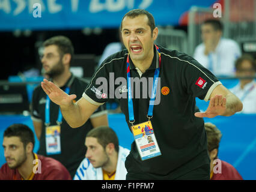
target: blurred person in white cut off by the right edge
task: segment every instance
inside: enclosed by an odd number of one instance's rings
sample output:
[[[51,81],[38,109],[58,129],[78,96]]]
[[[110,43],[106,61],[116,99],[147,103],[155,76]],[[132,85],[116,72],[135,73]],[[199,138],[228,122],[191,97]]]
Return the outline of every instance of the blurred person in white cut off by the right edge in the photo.
[[[230,89],[243,103],[241,113],[256,113],[256,82],[254,58],[251,55],[243,55],[236,61],[236,76],[239,83]],[[251,77],[243,79],[241,77]]]

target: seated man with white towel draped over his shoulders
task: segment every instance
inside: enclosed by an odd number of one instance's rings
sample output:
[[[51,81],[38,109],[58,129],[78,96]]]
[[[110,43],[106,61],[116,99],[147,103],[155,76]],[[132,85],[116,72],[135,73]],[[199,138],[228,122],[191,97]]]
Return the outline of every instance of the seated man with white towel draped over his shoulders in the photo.
[[[124,161],[129,149],[118,144],[114,130],[97,127],[85,138],[87,153],[76,172],[74,180],[125,180]]]

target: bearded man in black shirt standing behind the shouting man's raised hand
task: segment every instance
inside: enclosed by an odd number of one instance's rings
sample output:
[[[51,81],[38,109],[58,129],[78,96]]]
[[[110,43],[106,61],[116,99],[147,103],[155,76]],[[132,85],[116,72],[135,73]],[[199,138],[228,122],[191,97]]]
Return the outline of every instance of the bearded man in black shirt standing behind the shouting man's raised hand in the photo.
[[[67,94],[76,94],[77,98],[72,99],[75,103],[82,97],[88,82],[75,77],[70,72],[74,53],[72,42],[67,37],[56,36],[44,41],[43,46],[41,62],[45,73],[62,91]],[[72,178],[84,159],[86,152],[84,137],[88,131],[93,127],[108,125],[106,110],[100,107],[90,116],[90,121],[86,124],[76,130],[70,128],[62,118],[59,106],[50,101],[41,86],[37,86],[33,92],[31,118],[40,141],[38,154],[60,161],[67,167]]]

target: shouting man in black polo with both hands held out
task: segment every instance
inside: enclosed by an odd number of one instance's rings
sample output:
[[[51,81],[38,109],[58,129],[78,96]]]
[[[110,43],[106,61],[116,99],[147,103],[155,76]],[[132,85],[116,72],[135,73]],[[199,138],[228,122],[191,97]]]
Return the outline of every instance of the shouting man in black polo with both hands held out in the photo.
[[[76,95],[52,82],[44,80],[42,88],[74,128],[109,98],[120,99],[135,136],[126,179],[210,179],[203,117],[231,116],[242,110],[241,101],[189,55],[156,46],[158,29],[147,11],[125,14],[121,32],[126,49],[103,61],[75,104]],[[195,97],[210,100],[206,112],[199,112]]]

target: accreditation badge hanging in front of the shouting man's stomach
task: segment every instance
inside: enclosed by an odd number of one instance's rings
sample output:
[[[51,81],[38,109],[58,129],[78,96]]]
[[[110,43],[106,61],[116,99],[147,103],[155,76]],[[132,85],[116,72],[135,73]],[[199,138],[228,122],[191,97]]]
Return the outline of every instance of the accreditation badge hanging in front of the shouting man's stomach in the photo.
[[[142,161],[161,155],[151,121],[133,125],[131,128]]]

